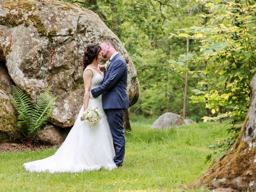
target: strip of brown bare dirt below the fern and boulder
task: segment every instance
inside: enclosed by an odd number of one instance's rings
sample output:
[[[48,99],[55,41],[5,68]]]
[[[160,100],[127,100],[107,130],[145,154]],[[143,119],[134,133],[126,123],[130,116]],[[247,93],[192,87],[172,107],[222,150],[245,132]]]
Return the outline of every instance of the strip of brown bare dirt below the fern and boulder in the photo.
[[[52,147],[59,147],[60,145],[45,145],[45,144],[32,144],[27,143],[1,143],[0,152],[20,152],[20,151],[34,151],[34,150],[44,150]]]

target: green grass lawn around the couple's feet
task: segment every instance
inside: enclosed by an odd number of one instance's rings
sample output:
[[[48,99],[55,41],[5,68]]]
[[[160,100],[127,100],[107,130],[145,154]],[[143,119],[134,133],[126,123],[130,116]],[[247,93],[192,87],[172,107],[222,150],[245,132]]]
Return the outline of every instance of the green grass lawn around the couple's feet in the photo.
[[[81,173],[30,173],[22,164],[46,158],[57,150],[0,152],[0,191],[206,191],[188,190],[210,165],[208,146],[226,131],[218,123],[200,123],[169,130],[152,130],[154,118],[132,117],[126,133],[123,168]]]

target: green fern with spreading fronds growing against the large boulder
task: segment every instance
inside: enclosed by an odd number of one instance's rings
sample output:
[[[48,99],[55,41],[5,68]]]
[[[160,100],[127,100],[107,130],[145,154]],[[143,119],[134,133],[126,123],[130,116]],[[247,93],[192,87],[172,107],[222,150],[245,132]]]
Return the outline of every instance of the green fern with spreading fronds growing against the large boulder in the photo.
[[[57,99],[51,93],[51,87],[44,90],[39,96],[36,104],[32,104],[29,96],[17,86],[12,86],[13,92],[10,99],[14,107],[18,110],[17,126],[22,134],[31,141],[36,136],[37,130],[50,118]]]

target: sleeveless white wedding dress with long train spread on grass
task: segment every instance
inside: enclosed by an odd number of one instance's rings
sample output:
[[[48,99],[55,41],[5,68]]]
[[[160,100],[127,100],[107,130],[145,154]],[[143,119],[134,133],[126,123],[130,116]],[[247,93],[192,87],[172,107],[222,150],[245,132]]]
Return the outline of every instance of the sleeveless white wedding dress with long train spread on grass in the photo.
[[[93,68],[91,89],[102,84],[103,73],[100,74]],[[102,115],[101,120],[95,126],[89,126],[81,121],[80,117],[84,112],[84,105],[80,109],[74,126],[70,130],[66,140],[62,143],[56,153],[48,158],[33,162],[24,163],[26,170],[31,172],[82,172],[84,170],[98,170],[101,167],[108,170],[116,168],[113,161],[115,150],[113,139],[106,118],[102,109],[101,96],[90,98],[88,108],[98,107]]]

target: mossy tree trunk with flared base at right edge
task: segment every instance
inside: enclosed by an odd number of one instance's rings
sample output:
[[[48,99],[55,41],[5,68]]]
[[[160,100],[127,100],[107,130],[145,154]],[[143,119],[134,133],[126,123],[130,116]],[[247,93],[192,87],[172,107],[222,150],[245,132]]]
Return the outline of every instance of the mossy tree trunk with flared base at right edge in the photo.
[[[218,162],[196,180],[191,187],[233,188],[256,191],[256,75],[250,84],[250,104],[238,140]]]

